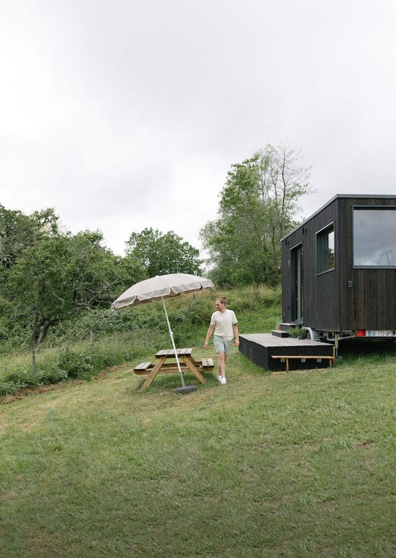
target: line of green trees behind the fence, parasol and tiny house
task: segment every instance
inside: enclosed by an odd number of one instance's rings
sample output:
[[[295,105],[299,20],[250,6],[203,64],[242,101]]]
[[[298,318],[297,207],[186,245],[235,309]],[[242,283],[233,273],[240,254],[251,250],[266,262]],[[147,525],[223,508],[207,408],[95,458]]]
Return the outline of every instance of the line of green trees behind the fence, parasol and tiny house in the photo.
[[[200,231],[206,262],[173,231],[132,232],[120,257],[103,246],[101,232],[62,230],[54,209],[27,216],[0,204],[0,348],[38,347],[50,331],[89,331],[91,322],[115,331],[132,318],[111,315],[110,303],[134,282],[164,273],[205,272],[219,288],[279,285],[279,241],[309,192],[309,169],[299,160],[291,146],[267,145],[231,166],[219,217]]]

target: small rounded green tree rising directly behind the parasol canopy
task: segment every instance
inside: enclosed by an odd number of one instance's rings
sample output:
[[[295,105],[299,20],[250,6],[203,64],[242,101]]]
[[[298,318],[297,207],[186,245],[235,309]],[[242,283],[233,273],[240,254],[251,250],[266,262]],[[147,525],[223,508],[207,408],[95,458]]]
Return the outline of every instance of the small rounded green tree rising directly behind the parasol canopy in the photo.
[[[173,231],[163,234],[158,229],[146,228],[133,232],[126,242],[126,253],[145,268],[149,277],[201,273],[199,250]]]

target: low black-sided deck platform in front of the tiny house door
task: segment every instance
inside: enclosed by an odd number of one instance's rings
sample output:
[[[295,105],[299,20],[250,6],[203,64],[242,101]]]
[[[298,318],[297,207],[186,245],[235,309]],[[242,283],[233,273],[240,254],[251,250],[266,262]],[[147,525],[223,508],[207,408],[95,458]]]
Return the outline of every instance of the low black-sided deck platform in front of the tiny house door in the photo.
[[[330,343],[281,338],[271,333],[240,335],[240,352],[265,370],[330,368],[335,357],[334,346]]]

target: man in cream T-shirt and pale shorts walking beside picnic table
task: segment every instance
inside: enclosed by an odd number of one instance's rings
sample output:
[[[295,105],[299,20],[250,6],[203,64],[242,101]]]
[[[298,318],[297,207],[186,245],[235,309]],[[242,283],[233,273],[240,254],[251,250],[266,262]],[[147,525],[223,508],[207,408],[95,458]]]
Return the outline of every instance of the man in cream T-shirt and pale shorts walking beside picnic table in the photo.
[[[216,301],[216,312],[213,312],[210,319],[210,326],[207,330],[205,339],[205,349],[209,347],[209,340],[213,336],[214,350],[217,353],[217,362],[219,364],[219,373],[217,380],[220,384],[226,384],[226,362],[227,356],[230,352],[230,347],[233,344],[235,335],[235,345],[240,344],[240,336],[237,326],[237,318],[233,310],[227,310],[226,299],[221,298]]]

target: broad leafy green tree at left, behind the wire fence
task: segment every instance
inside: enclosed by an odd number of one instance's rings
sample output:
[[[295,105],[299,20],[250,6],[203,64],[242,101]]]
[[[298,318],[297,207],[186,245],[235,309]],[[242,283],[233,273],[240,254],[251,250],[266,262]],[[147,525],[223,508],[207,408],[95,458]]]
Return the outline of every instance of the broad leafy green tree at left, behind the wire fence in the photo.
[[[8,293],[13,317],[34,345],[45,340],[50,327],[81,310],[108,308],[120,292],[145,278],[140,264],[124,262],[101,241],[101,233],[89,231],[45,236],[24,248],[8,270],[3,295]]]

